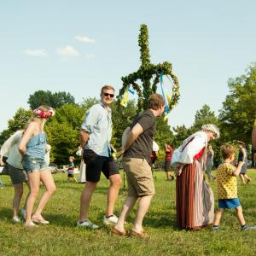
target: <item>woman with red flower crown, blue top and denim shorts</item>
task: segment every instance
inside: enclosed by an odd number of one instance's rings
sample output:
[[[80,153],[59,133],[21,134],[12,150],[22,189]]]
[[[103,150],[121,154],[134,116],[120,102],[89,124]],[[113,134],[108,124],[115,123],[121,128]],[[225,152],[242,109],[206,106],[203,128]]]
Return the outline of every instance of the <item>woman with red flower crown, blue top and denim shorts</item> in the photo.
[[[38,224],[49,224],[49,221],[42,217],[42,211],[55,191],[55,182],[51,172],[44,160],[46,134],[44,124],[47,119],[53,116],[55,110],[48,106],[40,106],[33,110],[34,117],[29,121],[20,141],[20,154],[22,166],[27,174],[29,195],[26,200],[26,227],[34,227]],[[42,195],[37,210],[32,215],[34,203],[38,197],[40,182],[44,183],[45,192]]]

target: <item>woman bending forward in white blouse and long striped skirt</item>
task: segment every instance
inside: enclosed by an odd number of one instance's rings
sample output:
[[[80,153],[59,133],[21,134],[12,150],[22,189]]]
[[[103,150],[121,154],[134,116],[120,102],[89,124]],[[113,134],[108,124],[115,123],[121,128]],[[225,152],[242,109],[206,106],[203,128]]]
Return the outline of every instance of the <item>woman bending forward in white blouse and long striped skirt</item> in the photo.
[[[216,125],[202,125],[183,141],[172,155],[176,168],[177,225],[181,229],[201,230],[212,224],[214,198],[212,189],[204,180],[207,143],[219,137]]]

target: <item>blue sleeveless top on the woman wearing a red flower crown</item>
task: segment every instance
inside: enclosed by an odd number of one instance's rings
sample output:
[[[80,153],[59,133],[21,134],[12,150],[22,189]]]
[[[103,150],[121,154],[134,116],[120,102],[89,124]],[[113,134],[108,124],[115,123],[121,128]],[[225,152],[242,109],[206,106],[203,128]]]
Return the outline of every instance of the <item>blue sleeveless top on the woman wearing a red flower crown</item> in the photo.
[[[32,136],[28,143],[26,143],[26,154],[39,159],[44,159],[45,144],[45,133],[38,133],[37,135]]]

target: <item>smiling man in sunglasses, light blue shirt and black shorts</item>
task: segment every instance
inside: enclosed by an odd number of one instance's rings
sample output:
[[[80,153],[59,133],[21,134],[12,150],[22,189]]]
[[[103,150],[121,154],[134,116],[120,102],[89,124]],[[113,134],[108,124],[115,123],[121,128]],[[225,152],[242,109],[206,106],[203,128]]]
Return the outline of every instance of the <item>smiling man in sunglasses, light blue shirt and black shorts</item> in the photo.
[[[90,201],[101,172],[109,179],[107,211],[103,217],[104,224],[116,224],[118,218],[113,213],[114,204],[119,194],[121,177],[119,167],[113,160],[110,141],[112,137],[112,119],[110,104],[114,99],[114,89],[105,85],[101,90],[101,102],[87,110],[80,131],[80,144],[84,150],[86,164],[86,184],[80,198],[79,227],[98,229],[88,218]]]

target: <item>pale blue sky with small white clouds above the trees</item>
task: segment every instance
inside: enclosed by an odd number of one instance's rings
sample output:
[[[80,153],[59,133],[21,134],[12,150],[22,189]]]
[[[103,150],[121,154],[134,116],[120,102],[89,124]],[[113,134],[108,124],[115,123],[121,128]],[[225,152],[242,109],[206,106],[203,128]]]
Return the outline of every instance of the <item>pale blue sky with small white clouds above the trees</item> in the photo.
[[[227,81],[256,61],[256,1],[1,1],[0,131],[36,90],[81,102],[140,66],[148,25],[151,61],[172,62],[181,99],[171,125],[191,125],[205,103],[216,113]],[[166,90],[172,90],[166,80]]]

